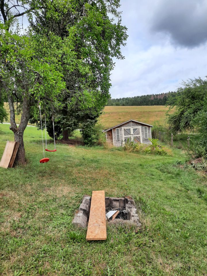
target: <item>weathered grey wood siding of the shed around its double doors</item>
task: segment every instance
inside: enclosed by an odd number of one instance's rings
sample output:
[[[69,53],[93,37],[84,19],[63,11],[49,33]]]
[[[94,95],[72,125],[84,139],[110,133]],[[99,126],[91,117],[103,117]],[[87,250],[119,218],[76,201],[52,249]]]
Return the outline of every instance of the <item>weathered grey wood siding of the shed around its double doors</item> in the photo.
[[[126,124],[122,124],[118,127],[119,129],[119,132],[120,132],[120,140],[116,140],[116,128],[112,129],[112,133],[113,133],[113,137],[114,137],[114,146],[115,147],[121,147],[121,145],[123,145],[123,133],[122,133],[122,127],[141,127],[141,139],[142,139],[142,143],[143,144],[151,144],[150,140],[147,139],[147,138],[144,138],[144,127],[147,127],[147,132],[148,132],[148,138],[152,138],[152,135],[151,135],[151,127],[149,126],[146,126],[144,124],[140,124],[140,123],[137,123],[137,122],[133,122],[133,121],[130,121],[130,122],[127,122]],[[108,133],[109,131],[107,131]],[[107,141],[108,141],[108,136],[107,136]],[[112,140],[112,143],[113,143],[113,140]]]

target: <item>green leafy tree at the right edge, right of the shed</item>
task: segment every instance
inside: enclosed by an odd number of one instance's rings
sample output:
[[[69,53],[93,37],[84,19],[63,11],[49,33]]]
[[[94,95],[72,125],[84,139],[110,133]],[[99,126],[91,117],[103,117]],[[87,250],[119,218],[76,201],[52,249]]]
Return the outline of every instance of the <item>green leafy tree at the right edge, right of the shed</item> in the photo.
[[[183,87],[177,90],[174,97],[170,97],[170,108],[176,108],[176,112],[168,114],[168,123],[173,133],[197,128],[199,132],[198,144],[194,147],[195,155],[207,154],[207,79],[201,78],[189,80],[183,83]]]

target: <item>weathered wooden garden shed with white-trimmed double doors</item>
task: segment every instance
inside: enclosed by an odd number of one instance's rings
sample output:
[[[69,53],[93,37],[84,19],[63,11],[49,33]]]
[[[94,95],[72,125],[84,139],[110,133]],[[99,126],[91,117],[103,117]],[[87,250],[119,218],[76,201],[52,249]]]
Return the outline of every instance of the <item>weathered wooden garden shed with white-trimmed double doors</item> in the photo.
[[[115,147],[123,146],[129,139],[135,143],[152,144],[151,124],[136,120],[128,120],[110,129],[106,129],[106,141]]]

